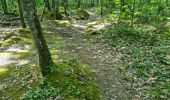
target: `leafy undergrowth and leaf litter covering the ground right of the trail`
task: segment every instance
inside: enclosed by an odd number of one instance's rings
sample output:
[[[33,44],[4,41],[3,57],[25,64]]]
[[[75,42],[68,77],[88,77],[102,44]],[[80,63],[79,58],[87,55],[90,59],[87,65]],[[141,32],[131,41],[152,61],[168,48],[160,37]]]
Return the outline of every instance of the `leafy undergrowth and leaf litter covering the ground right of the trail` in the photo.
[[[108,28],[98,39],[123,54],[123,80],[131,84],[140,99],[170,98],[170,32],[118,24]],[[130,91],[130,90],[127,90]]]

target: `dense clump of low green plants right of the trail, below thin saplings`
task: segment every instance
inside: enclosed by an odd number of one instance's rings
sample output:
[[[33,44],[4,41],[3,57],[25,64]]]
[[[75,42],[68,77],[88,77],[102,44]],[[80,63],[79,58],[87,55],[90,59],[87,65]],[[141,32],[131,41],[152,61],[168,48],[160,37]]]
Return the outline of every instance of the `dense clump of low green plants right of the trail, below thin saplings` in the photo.
[[[117,42],[123,45],[138,43],[138,45],[154,45],[157,42],[156,34],[142,28],[131,28],[127,24],[117,24],[106,30],[107,42],[116,45]],[[127,40],[127,41],[124,41]]]

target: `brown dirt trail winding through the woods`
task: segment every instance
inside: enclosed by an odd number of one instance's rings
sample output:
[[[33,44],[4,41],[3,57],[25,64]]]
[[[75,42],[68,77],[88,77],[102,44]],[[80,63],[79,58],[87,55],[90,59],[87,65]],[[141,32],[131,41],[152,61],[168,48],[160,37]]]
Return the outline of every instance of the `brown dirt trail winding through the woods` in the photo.
[[[123,54],[117,48],[109,47],[102,42],[92,43],[84,37],[87,24],[101,18],[100,15],[88,12],[91,14],[88,20],[72,21],[68,27],[46,21],[43,22],[43,27],[50,33],[59,34],[70,54],[95,70],[97,83],[102,90],[101,100],[136,99],[133,87],[123,80]]]

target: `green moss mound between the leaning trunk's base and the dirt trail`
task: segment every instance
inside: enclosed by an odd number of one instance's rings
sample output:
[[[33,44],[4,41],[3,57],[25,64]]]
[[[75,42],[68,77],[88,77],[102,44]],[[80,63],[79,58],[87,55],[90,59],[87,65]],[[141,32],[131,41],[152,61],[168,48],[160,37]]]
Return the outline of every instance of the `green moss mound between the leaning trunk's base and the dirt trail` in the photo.
[[[64,100],[99,100],[100,89],[95,84],[95,74],[89,66],[76,59],[58,62],[57,66],[57,72],[47,76],[47,81],[59,88]],[[65,75],[66,72],[70,72],[70,75]]]

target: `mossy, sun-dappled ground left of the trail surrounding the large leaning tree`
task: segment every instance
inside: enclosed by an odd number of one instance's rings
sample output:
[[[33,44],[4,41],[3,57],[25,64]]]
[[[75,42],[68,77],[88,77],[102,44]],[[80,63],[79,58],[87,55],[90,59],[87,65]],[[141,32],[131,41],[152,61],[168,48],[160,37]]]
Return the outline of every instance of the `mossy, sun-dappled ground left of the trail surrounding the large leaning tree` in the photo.
[[[4,40],[2,55],[10,53],[13,62],[0,66],[0,98],[24,100],[98,100],[100,89],[93,70],[64,49],[56,34],[45,33],[56,68],[43,78],[31,33],[27,29]],[[8,50],[9,48],[15,48]],[[15,51],[16,50],[16,51]],[[2,60],[2,59],[1,59]]]

